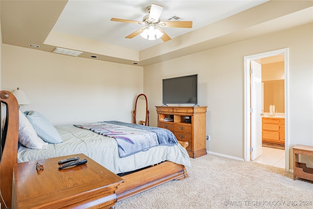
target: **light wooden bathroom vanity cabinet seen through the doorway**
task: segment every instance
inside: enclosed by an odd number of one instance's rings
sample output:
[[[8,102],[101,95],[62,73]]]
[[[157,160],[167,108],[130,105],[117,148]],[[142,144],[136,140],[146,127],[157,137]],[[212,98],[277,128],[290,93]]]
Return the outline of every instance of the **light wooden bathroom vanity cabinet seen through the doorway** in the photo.
[[[262,117],[262,141],[285,144],[285,118]]]

